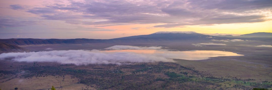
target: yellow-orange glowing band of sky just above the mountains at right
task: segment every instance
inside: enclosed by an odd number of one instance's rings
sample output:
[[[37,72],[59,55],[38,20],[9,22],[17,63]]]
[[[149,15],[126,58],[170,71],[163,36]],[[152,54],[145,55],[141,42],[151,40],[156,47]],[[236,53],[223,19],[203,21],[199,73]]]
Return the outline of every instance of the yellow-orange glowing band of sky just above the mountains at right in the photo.
[[[158,24],[134,24],[134,25],[120,25],[120,26],[107,26],[101,27],[106,29],[116,29],[111,33],[116,34],[131,34],[131,35],[146,35],[158,31],[194,31],[197,33],[222,33],[222,34],[249,34],[254,32],[272,32],[272,21],[257,22],[257,23],[240,23],[240,24],[218,24],[210,26],[184,26],[175,28],[155,28],[154,25]],[[138,29],[131,29],[137,28]],[[104,31],[102,31],[104,32]],[[109,31],[106,31],[107,33]]]

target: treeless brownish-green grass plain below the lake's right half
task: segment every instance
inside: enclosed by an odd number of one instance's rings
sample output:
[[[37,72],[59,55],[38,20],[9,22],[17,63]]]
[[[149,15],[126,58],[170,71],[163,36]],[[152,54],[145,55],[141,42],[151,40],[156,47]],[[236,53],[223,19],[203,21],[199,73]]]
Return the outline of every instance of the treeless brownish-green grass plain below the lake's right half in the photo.
[[[271,80],[272,68],[262,64],[254,64],[237,60],[203,60],[191,61],[175,59],[183,66],[195,67],[198,71],[204,71],[217,77],[232,76],[242,79]],[[271,65],[270,65],[271,66]]]

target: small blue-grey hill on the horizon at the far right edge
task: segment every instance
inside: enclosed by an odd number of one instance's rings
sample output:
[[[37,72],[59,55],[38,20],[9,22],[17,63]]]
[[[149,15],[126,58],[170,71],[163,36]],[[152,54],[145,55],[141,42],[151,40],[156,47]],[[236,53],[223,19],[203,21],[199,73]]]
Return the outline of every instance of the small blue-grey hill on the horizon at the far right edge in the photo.
[[[251,34],[240,35],[240,37],[272,37],[270,32],[256,32]]]

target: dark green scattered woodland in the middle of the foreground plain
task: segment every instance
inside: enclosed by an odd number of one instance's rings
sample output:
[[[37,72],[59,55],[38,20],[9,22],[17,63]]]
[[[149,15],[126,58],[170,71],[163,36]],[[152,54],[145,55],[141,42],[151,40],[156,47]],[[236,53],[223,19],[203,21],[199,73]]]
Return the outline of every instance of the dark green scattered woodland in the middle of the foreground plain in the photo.
[[[135,69],[131,71],[132,74],[125,74],[124,71],[121,71],[119,68],[131,68]],[[183,77],[180,74],[175,72],[167,72],[169,69],[181,70],[178,66],[167,65],[165,63],[160,63],[158,65],[124,65],[120,66],[118,69],[111,70],[81,70],[73,68],[62,68],[61,66],[23,66],[24,71],[27,71],[27,74],[23,75],[24,78],[31,77],[44,77],[48,75],[53,76],[63,76],[63,75],[73,75],[73,77],[79,78],[79,83],[86,85],[96,85],[100,89],[163,89],[169,88],[169,85],[178,82],[190,81],[189,78]],[[140,73],[139,72],[148,72]],[[193,72],[193,71],[192,71]],[[159,85],[153,85],[154,82],[159,79],[154,78],[153,73],[166,74],[170,78],[162,79],[163,83]]]

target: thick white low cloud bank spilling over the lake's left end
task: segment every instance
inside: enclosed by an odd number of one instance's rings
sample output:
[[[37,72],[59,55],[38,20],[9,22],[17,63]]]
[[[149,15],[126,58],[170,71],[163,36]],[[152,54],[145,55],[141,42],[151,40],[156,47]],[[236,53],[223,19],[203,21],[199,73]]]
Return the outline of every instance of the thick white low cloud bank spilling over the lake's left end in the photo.
[[[68,50],[17,52],[0,54],[0,59],[12,58],[16,62],[57,62],[60,64],[129,64],[135,62],[174,62],[152,54],[137,54],[133,52],[103,53],[98,50]]]

